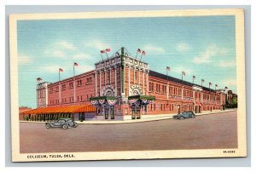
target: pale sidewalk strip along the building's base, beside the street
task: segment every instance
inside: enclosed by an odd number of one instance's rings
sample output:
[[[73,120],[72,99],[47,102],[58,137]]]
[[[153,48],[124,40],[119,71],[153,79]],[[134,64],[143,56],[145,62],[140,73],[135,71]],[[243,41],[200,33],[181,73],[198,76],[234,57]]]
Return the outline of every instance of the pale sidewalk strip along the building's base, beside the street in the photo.
[[[230,110],[224,110],[224,111],[212,111],[212,112],[202,112],[202,113],[196,113],[196,116],[201,116],[201,115],[209,115],[212,113],[221,113],[221,112],[232,112],[236,111],[236,109],[230,109]],[[165,119],[172,119],[172,117],[177,114],[170,114],[170,115],[163,115],[161,117],[153,117],[153,118],[141,118],[141,119],[129,119],[125,121],[111,121],[111,120],[106,120],[106,121],[83,121],[83,122],[76,122],[79,124],[118,124],[118,123],[143,123],[143,122],[148,122],[148,121],[159,121],[159,120],[165,120]],[[149,116],[149,115],[148,115]]]

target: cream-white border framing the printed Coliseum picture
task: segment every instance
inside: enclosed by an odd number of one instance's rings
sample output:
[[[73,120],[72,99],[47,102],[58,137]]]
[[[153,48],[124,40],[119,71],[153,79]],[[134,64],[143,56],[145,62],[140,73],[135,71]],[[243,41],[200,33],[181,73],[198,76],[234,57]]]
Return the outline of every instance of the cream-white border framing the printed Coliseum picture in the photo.
[[[165,151],[125,151],[125,152],[68,152],[75,158],[27,158],[33,153],[20,153],[19,103],[18,103],[18,59],[17,59],[17,20],[67,20],[67,19],[103,19],[131,17],[172,17],[235,15],[236,17],[236,81],[238,95],[237,129],[238,148],[230,149],[236,153],[224,153],[224,149],[165,150]],[[244,12],[243,9],[181,9],[154,11],[122,12],[86,12],[53,14],[11,14],[9,16],[10,42],[10,90],[11,90],[11,126],[12,160],[29,161],[78,161],[110,159],[151,159],[151,158],[221,158],[245,157],[246,147],[246,93],[245,93],[245,51],[244,51]],[[225,149],[229,151],[229,149]],[[35,155],[65,155],[67,153],[35,153]]]

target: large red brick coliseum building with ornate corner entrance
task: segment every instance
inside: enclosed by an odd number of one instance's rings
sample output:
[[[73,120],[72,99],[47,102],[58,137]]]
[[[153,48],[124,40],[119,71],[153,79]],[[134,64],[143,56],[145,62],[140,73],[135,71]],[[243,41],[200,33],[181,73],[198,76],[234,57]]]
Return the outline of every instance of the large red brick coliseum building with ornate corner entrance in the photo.
[[[215,90],[149,69],[125,48],[96,62],[95,70],[56,83],[38,83],[38,108],[93,105],[93,119],[136,119],[183,111],[221,110],[224,90]],[[90,114],[91,115],[91,114]],[[89,118],[86,113],[83,118]]]

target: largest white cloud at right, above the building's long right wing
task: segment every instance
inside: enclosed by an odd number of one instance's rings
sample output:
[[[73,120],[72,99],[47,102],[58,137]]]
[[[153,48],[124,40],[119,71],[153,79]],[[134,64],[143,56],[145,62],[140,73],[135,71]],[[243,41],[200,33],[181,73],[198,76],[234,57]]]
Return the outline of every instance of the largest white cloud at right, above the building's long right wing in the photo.
[[[210,45],[201,55],[194,58],[195,64],[210,63],[212,58],[216,55],[224,55],[229,52],[229,49],[218,48],[216,45]]]

